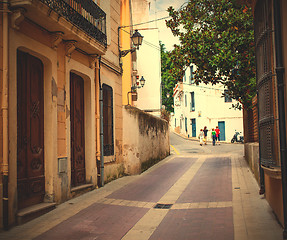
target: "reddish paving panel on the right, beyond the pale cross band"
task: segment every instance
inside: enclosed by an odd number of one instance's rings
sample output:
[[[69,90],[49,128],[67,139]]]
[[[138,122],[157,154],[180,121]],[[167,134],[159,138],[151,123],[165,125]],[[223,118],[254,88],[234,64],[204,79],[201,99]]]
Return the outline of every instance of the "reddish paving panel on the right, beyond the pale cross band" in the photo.
[[[232,201],[230,158],[209,158],[203,163],[177,203]]]

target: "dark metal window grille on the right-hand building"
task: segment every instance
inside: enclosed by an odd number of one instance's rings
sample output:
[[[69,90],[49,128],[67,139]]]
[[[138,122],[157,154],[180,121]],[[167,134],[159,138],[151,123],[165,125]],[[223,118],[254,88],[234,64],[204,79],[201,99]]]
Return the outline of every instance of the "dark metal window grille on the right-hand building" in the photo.
[[[256,71],[260,161],[276,166],[274,154],[274,84],[272,74],[272,12],[269,1],[258,1],[255,8]]]

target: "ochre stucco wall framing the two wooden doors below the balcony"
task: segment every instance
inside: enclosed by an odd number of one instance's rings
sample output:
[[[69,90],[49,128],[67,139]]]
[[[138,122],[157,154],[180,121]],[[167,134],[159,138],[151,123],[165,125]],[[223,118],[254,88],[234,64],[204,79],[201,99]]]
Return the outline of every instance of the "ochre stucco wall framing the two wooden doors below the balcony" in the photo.
[[[45,201],[60,203],[73,196],[70,191],[71,158],[69,155],[70,135],[68,134],[70,107],[67,101],[70,98],[70,71],[80,74],[85,81],[86,182],[94,186],[97,184],[96,97],[95,69],[90,67],[88,56],[74,51],[71,57],[67,57],[64,42],[53,49],[49,33],[29,21],[22,22],[19,30],[9,28],[9,37],[13,39],[9,42],[9,223],[15,224],[17,213],[17,50],[28,52],[39,58],[44,65]],[[53,88],[57,90],[56,95],[53,95],[55,90]],[[66,173],[58,173],[59,157],[67,157]],[[2,202],[0,202],[2,209],[1,205]]]

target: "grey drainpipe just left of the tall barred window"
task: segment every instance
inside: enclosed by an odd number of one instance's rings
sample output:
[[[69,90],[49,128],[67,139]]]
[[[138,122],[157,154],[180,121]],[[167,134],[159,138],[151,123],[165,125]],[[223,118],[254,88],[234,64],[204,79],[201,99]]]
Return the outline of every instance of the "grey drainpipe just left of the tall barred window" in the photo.
[[[101,83],[101,57],[99,57],[99,87],[100,87],[100,161],[101,161],[101,187],[104,186],[104,117],[103,117],[103,88]]]

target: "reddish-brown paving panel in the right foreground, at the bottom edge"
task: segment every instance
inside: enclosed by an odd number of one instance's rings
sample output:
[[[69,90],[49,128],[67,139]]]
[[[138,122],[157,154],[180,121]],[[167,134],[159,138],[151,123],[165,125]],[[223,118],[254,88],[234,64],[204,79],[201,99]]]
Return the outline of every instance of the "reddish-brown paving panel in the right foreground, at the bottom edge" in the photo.
[[[149,240],[233,240],[232,208],[170,210]]]

